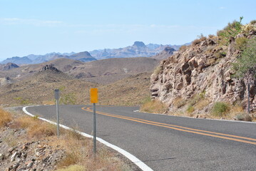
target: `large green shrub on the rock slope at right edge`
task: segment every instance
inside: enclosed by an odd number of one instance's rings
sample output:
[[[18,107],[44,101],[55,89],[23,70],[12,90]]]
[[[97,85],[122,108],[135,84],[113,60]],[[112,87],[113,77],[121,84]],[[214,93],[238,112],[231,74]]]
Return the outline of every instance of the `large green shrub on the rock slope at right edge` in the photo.
[[[237,58],[236,63],[232,63],[232,69],[235,71],[233,77],[244,78],[245,74],[250,71],[250,73],[256,73],[256,37],[250,38],[244,50],[242,51],[240,57]],[[255,74],[256,77],[256,74]]]

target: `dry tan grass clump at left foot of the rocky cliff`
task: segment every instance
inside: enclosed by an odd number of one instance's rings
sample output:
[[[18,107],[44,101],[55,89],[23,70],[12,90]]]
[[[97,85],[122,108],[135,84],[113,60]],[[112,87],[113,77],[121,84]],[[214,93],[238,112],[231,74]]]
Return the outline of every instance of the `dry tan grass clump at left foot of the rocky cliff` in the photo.
[[[140,111],[146,113],[165,113],[167,110],[168,106],[159,100],[152,100],[140,106]]]

